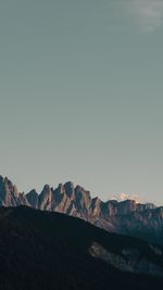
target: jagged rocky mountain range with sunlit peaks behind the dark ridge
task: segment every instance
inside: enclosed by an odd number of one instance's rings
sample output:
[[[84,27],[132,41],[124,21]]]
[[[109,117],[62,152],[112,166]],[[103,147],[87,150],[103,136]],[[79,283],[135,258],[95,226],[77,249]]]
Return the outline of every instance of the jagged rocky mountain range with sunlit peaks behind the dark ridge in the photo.
[[[163,244],[163,206],[152,203],[141,204],[135,200],[103,202],[71,181],[60,184],[58,188],[45,185],[40,193],[33,189],[25,194],[20,193],[9,178],[0,176],[0,206],[18,205],[79,217],[110,232]]]

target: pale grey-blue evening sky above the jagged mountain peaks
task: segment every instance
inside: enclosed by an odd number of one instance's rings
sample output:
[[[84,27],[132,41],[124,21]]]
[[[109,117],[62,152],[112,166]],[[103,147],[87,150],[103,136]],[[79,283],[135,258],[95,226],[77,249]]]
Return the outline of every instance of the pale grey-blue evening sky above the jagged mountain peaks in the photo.
[[[163,204],[162,51],[162,0],[1,0],[0,174]]]

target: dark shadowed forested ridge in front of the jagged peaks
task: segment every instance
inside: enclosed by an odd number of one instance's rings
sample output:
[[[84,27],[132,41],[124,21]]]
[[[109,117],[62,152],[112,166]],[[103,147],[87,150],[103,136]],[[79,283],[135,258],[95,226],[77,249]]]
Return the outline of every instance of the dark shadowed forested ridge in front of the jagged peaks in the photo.
[[[0,289],[161,289],[161,247],[27,206],[0,209]]]

